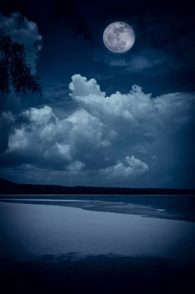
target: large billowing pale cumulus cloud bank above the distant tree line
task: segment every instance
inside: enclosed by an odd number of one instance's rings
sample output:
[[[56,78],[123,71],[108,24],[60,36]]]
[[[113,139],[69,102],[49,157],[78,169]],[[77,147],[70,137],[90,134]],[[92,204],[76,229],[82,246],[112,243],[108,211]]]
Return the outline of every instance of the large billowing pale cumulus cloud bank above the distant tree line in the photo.
[[[14,165],[20,176],[23,171],[34,174],[34,179],[38,169],[49,178],[52,174],[55,183],[66,179],[66,184],[114,185],[117,180],[118,185],[131,186],[140,185],[148,174],[151,180],[159,163],[162,170],[163,163],[164,170],[173,165],[170,138],[190,121],[193,94],[152,98],[134,85],[129,93],[118,91],[108,97],[95,79],[80,74],[72,76],[69,89],[77,108],[64,118],[47,105],[28,108],[18,118],[4,114],[13,124],[4,165]]]

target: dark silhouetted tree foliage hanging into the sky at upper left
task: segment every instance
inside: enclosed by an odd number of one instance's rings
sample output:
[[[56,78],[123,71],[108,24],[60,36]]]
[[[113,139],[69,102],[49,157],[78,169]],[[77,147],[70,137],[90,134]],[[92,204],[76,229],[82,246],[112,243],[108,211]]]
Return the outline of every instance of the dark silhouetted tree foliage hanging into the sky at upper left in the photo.
[[[46,7],[49,10],[48,21],[64,19],[65,27],[72,27],[74,37],[83,34],[84,40],[90,41],[93,46],[93,38],[85,19],[76,11],[76,0],[46,0]],[[25,17],[24,0],[13,3],[12,1],[9,3],[8,0],[6,8],[2,9],[1,13],[9,17],[12,12],[16,13],[16,22],[22,24]],[[31,94],[42,96],[41,85],[38,83],[40,77],[31,74],[31,67],[25,61],[25,50],[28,49],[25,49],[23,44],[13,41],[12,37],[0,28],[0,91],[9,93],[12,84],[17,96],[21,92],[25,94],[26,90],[30,90]]]

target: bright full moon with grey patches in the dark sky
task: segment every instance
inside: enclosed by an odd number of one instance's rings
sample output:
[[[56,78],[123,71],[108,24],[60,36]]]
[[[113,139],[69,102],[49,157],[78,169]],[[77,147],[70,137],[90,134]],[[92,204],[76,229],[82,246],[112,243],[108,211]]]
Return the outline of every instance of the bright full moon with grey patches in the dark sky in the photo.
[[[103,43],[114,53],[124,53],[131,49],[135,42],[135,33],[132,27],[123,22],[108,25],[103,33]]]

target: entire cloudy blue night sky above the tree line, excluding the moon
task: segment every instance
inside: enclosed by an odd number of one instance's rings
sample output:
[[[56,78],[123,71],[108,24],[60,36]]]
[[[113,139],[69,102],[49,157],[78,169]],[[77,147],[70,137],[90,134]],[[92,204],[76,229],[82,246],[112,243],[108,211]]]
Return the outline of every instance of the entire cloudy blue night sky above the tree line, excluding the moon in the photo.
[[[40,3],[41,2],[41,3]],[[42,3],[43,2],[43,3]],[[44,1],[22,25],[0,14],[41,76],[43,97],[0,93],[0,177],[18,183],[195,189],[195,17],[188,1],[82,0],[94,46]],[[132,26],[113,53],[107,25]],[[104,93],[105,92],[105,93]]]

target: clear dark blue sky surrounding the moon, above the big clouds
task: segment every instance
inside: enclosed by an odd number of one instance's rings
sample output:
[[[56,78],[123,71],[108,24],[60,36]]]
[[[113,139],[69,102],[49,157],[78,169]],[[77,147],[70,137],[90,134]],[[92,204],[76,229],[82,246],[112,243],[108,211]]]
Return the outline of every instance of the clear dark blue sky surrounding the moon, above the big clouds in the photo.
[[[95,72],[97,75],[110,74],[115,75],[113,84],[116,84],[117,80],[120,84],[120,89],[117,90],[121,91],[129,91],[124,81],[126,78],[130,84],[142,83],[146,91],[151,91],[149,84],[152,75],[153,84],[156,85],[155,89],[152,89],[154,95],[167,93],[167,90],[195,90],[193,80],[195,20],[193,9],[188,3],[183,7],[183,4],[171,5],[165,1],[163,3],[147,1],[147,4],[145,1],[135,1],[130,4],[129,1],[123,1],[122,5],[118,0],[78,2],[77,10],[85,16],[94,37],[93,49],[89,42],[83,41],[83,36],[74,39],[72,30],[64,29],[64,20],[59,23],[46,22],[47,11],[44,4],[40,8],[38,2],[34,10],[26,7],[26,15],[38,25],[39,33],[44,36],[44,47],[37,65],[40,75],[47,76],[49,81],[59,81],[62,78],[64,81],[64,75],[67,73],[69,82],[70,74],[76,71],[85,76],[88,76],[89,72],[91,74]],[[40,14],[36,13],[37,10]],[[108,51],[102,40],[105,27],[118,20],[129,23],[136,34],[133,48],[120,56]],[[109,61],[113,59],[126,60],[128,63],[134,56],[143,56],[151,63],[159,60],[159,63],[133,72],[128,71],[126,67],[109,65]],[[95,60],[96,58],[99,62]],[[53,71],[50,71],[50,67]],[[69,69],[66,73],[64,73],[65,67]],[[106,86],[108,81],[103,84]]]

